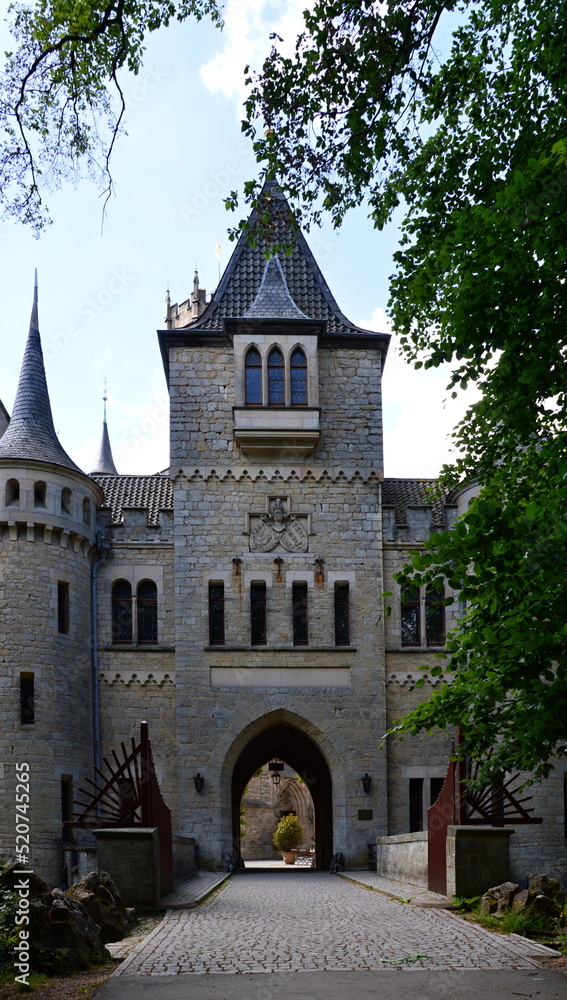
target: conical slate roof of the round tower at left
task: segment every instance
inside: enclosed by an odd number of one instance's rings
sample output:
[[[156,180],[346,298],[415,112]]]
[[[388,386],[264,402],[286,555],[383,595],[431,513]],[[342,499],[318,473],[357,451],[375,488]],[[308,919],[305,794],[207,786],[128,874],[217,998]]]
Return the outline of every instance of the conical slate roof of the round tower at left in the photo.
[[[0,459],[33,459],[81,472],[59,443],[53,426],[39,336],[37,279],[30,329],[20,371],[12,417],[0,438]]]

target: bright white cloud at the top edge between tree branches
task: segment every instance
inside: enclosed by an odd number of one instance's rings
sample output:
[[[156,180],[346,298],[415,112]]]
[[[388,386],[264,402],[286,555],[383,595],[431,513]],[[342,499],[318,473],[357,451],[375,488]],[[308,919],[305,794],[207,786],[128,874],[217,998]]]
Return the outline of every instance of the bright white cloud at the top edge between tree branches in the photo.
[[[278,48],[293,51],[296,36],[303,28],[303,11],[313,0],[228,0],[222,48],[200,69],[201,80],[213,94],[234,98],[238,117],[246,98],[244,67],[259,71],[272,42],[272,31],[284,39]]]

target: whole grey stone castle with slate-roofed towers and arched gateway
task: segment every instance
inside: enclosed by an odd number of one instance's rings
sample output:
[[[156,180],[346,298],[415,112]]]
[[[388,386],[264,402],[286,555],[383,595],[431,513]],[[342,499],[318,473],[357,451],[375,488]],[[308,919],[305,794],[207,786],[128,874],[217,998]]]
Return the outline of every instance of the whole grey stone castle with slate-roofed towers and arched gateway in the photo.
[[[339,850],[365,867],[378,836],[424,829],[445,774],[451,734],[382,746],[445,683],[410,691],[452,623],[445,595],[400,594],[393,574],[467,490],[434,501],[429,481],[384,478],[389,335],[343,315],[268,194],[293,253],[267,260],[242,236],[210,301],[198,279],[168,300],[167,473],[120,475],[106,421],[92,473],[66,454],[35,295],[0,413],[0,857],[26,761],[30,862],[55,884],[78,787],[141,720],[174,832],[205,867],[238,853],[243,791],[273,758],[309,783],[319,867]],[[567,874],[566,767],[533,792],[543,823],[512,837],[514,877]]]

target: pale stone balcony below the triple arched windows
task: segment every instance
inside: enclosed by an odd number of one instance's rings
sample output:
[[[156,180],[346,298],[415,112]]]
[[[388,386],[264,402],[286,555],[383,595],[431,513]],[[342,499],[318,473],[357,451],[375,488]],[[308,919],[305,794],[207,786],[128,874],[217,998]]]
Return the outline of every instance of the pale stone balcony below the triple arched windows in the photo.
[[[318,406],[235,406],[234,441],[243,455],[298,461],[319,444]]]

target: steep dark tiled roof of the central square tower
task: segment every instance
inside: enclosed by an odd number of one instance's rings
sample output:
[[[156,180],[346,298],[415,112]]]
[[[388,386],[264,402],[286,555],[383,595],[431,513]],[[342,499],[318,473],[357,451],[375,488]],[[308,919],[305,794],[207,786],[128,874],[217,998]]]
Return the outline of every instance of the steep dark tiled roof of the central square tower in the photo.
[[[376,336],[375,331],[362,330],[355,326],[339,309],[303,233],[294,225],[290,207],[275,181],[268,181],[265,184],[262,197],[270,213],[274,241],[293,246],[289,256],[286,254],[282,255],[281,260],[278,258],[281,277],[288,295],[297,310],[304,314],[301,317],[295,313],[290,318],[323,321],[328,334],[365,333]],[[252,230],[257,220],[258,214],[255,210],[250,216]],[[247,235],[243,233],[211,301],[201,316],[188,324],[185,329],[195,333],[198,331],[221,333],[226,319],[250,316],[251,310],[257,306],[265,275],[268,274],[270,281],[276,280],[273,267],[269,271],[266,269],[268,251],[269,246],[263,236],[259,236],[256,245],[251,246]],[[265,305],[265,301],[262,293],[260,304]],[[280,298],[279,302],[282,306],[283,299]],[[283,307],[289,308],[287,300]],[[270,317],[264,314],[262,318],[278,317],[272,313]],[[389,339],[387,334],[378,336],[383,336],[385,341]]]

